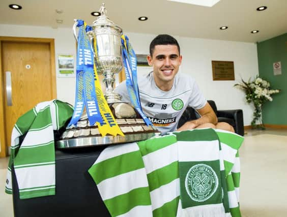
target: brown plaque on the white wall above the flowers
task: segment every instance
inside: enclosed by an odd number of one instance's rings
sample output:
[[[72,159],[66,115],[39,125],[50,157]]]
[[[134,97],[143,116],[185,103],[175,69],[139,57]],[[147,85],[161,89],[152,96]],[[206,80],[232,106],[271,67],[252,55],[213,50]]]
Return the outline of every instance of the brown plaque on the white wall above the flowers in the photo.
[[[214,81],[229,81],[234,78],[234,63],[233,61],[211,61],[212,76]]]

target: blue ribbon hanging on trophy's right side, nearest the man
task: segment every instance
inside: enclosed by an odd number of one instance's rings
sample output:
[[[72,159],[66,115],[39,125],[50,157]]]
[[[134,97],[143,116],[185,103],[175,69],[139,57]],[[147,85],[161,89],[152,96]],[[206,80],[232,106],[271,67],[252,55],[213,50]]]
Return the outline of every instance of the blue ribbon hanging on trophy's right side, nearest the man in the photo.
[[[145,121],[147,126],[153,125],[149,118],[142,112],[139,99],[139,91],[137,84],[137,75],[136,75],[136,55],[131,45],[129,44],[129,39],[125,36],[127,49],[125,47],[125,41],[122,39],[122,56],[123,64],[126,73],[126,85],[127,90],[131,99],[131,104],[140,114],[142,119]],[[131,71],[131,73],[130,73]]]

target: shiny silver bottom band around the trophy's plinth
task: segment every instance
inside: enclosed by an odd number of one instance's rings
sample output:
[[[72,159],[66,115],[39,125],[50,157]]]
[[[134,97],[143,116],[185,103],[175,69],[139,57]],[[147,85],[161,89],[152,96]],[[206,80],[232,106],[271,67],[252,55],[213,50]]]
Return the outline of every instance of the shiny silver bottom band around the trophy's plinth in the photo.
[[[101,146],[111,144],[121,144],[128,142],[137,142],[140,140],[146,140],[155,136],[155,133],[137,133],[126,134],[125,136],[95,136],[95,137],[82,137],[74,139],[64,139],[56,142],[57,148],[77,148],[77,147],[89,147],[89,146]]]

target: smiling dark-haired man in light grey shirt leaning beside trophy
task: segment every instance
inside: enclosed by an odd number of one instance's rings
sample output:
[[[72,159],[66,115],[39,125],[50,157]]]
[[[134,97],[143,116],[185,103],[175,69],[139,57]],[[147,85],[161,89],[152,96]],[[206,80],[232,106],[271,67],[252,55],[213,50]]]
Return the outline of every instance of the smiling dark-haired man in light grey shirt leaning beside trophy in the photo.
[[[150,44],[148,63],[153,72],[138,78],[139,96],[143,112],[162,134],[177,130],[178,122],[187,106],[193,107],[200,118],[187,121],[178,131],[195,128],[217,128],[234,132],[228,123],[217,123],[217,117],[194,79],[178,74],[182,63],[180,46],[169,35],[158,35]],[[126,82],[115,92],[123,96],[123,102],[130,102]]]

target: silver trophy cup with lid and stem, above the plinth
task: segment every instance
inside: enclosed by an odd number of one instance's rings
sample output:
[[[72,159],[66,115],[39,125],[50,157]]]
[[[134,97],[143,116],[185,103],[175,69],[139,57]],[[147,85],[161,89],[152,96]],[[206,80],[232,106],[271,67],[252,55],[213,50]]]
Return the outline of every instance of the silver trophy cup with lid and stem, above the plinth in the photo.
[[[114,74],[120,73],[123,69],[121,38],[123,30],[106,16],[105,4],[102,4],[99,12],[101,15],[93,22],[92,29],[87,35],[90,38],[97,72],[104,77],[107,103],[116,103],[120,102],[121,96],[114,94],[113,84]]]

